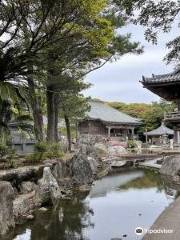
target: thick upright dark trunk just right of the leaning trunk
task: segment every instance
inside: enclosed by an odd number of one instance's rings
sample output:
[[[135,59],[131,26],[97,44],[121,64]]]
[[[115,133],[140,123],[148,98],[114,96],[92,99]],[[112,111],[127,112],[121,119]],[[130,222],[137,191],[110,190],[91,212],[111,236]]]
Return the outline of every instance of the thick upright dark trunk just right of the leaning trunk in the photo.
[[[47,141],[50,143],[55,142],[55,101],[54,92],[52,87],[47,87]]]

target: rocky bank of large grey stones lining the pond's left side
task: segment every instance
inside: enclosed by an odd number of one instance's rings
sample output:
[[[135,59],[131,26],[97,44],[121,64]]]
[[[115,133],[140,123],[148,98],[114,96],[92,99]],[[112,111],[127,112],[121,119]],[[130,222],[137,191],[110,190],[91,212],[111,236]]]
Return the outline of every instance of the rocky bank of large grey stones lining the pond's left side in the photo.
[[[85,189],[94,180],[98,165],[94,149],[86,145],[67,161],[0,171],[0,236],[15,222],[32,220],[35,208],[56,205],[66,193],[70,195],[69,186]]]

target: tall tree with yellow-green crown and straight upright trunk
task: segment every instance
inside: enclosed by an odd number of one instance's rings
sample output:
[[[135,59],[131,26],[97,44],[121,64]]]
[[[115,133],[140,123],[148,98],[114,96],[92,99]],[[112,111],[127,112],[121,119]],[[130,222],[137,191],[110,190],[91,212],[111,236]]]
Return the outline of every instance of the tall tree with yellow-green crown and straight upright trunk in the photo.
[[[112,22],[103,11],[107,4],[96,1],[96,4],[88,1],[87,9],[78,24],[72,23],[69,38],[65,42],[57,42],[47,50],[47,113],[49,142],[56,141],[56,129],[58,116],[57,92],[63,88],[63,79],[79,79],[90,71],[103,66],[113,57],[121,56],[128,52],[140,52],[138,43],[131,43],[130,36],[119,36],[115,32],[117,25]],[[82,18],[82,16],[81,16]],[[121,22],[122,25],[122,22]],[[58,37],[58,36],[57,36]],[[60,53],[65,52],[63,55]],[[56,106],[56,107],[55,107]],[[55,124],[56,123],[56,124]]]

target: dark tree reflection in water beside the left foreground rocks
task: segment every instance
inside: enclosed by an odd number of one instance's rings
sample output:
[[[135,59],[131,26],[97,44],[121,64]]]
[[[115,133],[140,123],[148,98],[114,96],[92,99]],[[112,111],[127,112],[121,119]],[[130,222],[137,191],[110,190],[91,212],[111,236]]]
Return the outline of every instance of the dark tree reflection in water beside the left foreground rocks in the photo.
[[[31,240],[88,240],[85,228],[92,227],[93,212],[81,198],[61,200],[59,205],[47,212],[38,212],[31,226]]]

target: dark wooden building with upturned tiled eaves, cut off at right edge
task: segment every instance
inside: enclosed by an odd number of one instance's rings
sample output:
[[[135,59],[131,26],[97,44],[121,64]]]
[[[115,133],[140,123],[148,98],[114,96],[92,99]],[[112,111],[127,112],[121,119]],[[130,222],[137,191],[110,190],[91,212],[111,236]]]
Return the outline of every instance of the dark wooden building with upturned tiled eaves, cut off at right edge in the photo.
[[[142,84],[151,92],[177,104],[177,110],[165,114],[164,121],[174,128],[174,143],[180,145],[180,69],[164,75],[143,76]]]

